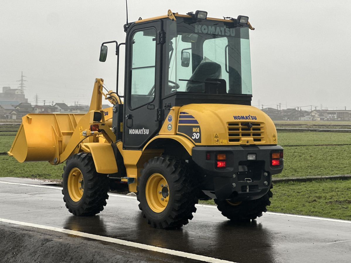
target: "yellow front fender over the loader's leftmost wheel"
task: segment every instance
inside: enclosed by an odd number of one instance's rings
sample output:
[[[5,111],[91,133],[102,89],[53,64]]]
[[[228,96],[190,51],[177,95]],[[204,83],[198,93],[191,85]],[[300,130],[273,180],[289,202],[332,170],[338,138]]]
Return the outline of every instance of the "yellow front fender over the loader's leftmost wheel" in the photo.
[[[83,143],[93,156],[96,171],[101,174],[113,174],[118,172],[116,159],[110,143]]]

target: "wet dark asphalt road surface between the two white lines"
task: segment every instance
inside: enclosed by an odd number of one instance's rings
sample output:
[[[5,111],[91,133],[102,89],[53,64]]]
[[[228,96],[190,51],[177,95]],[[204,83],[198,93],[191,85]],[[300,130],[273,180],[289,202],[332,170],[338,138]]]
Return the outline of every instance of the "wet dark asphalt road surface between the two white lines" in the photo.
[[[217,208],[198,206],[193,220],[182,229],[159,230],[151,228],[141,217],[136,198],[110,196],[98,216],[76,217],[65,208],[61,189],[3,183],[0,218],[233,262],[351,262],[351,224],[345,222],[264,214],[256,221],[238,226],[231,224]],[[193,261],[179,258],[178,262]]]

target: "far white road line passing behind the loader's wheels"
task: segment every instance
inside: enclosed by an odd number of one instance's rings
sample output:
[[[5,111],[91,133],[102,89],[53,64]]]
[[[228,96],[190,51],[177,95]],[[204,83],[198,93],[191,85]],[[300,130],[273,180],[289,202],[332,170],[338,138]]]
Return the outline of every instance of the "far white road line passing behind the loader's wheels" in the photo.
[[[26,184],[26,183],[10,183],[10,182],[1,182],[0,183],[7,183],[7,184],[18,184],[20,186],[34,186],[34,187],[44,187],[44,188],[53,188],[53,189],[62,189],[62,187],[58,186],[45,186],[42,184]],[[123,197],[123,198],[132,198],[135,199],[135,196],[129,196],[129,195],[120,195],[120,194],[111,194],[108,193],[109,196],[117,196],[117,197]],[[217,208],[215,205],[208,205],[208,204],[196,204],[198,207],[209,207],[209,208]],[[283,214],[283,213],[276,213],[276,212],[266,212],[266,214],[269,215],[276,215],[276,216],[291,216],[291,217],[300,217],[300,218],[307,218],[307,219],[314,219],[314,220],[324,220],[324,221],[333,221],[333,222],[339,222],[339,223],[349,223],[351,224],[351,221],[349,220],[340,220],[340,219],[333,219],[333,218],[325,218],[325,217],[317,217],[317,216],[302,216],[302,215],[293,215],[293,214]]]

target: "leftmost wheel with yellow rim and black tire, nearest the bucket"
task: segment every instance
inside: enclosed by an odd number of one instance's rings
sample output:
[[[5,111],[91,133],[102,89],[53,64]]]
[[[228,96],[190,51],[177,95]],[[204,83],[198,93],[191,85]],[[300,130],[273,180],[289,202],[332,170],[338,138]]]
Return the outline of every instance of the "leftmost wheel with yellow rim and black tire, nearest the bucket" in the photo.
[[[108,199],[108,178],[97,173],[91,154],[69,157],[62,174],[66,208],[75,216],[92,216],[104,210]]]

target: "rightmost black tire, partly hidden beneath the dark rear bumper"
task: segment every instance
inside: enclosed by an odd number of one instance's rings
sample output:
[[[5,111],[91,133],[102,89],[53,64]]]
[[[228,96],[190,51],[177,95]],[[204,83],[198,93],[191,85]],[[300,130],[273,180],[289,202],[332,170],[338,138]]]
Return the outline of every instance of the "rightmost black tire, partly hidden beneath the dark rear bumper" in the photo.
[[[271,186],[272,188],[273,185]],[[269,190],[267,194],[256,200],[234,203],[227,200],[214,199],[214,202],[217,204],[218,210],[222,212],[222,215],[233,222],[240,223],[255,220],[257,217],[262,216],[262,213],[267,211],[266,206],[271,204],[269,200],[271,197],[273,197],[273,193]]]

